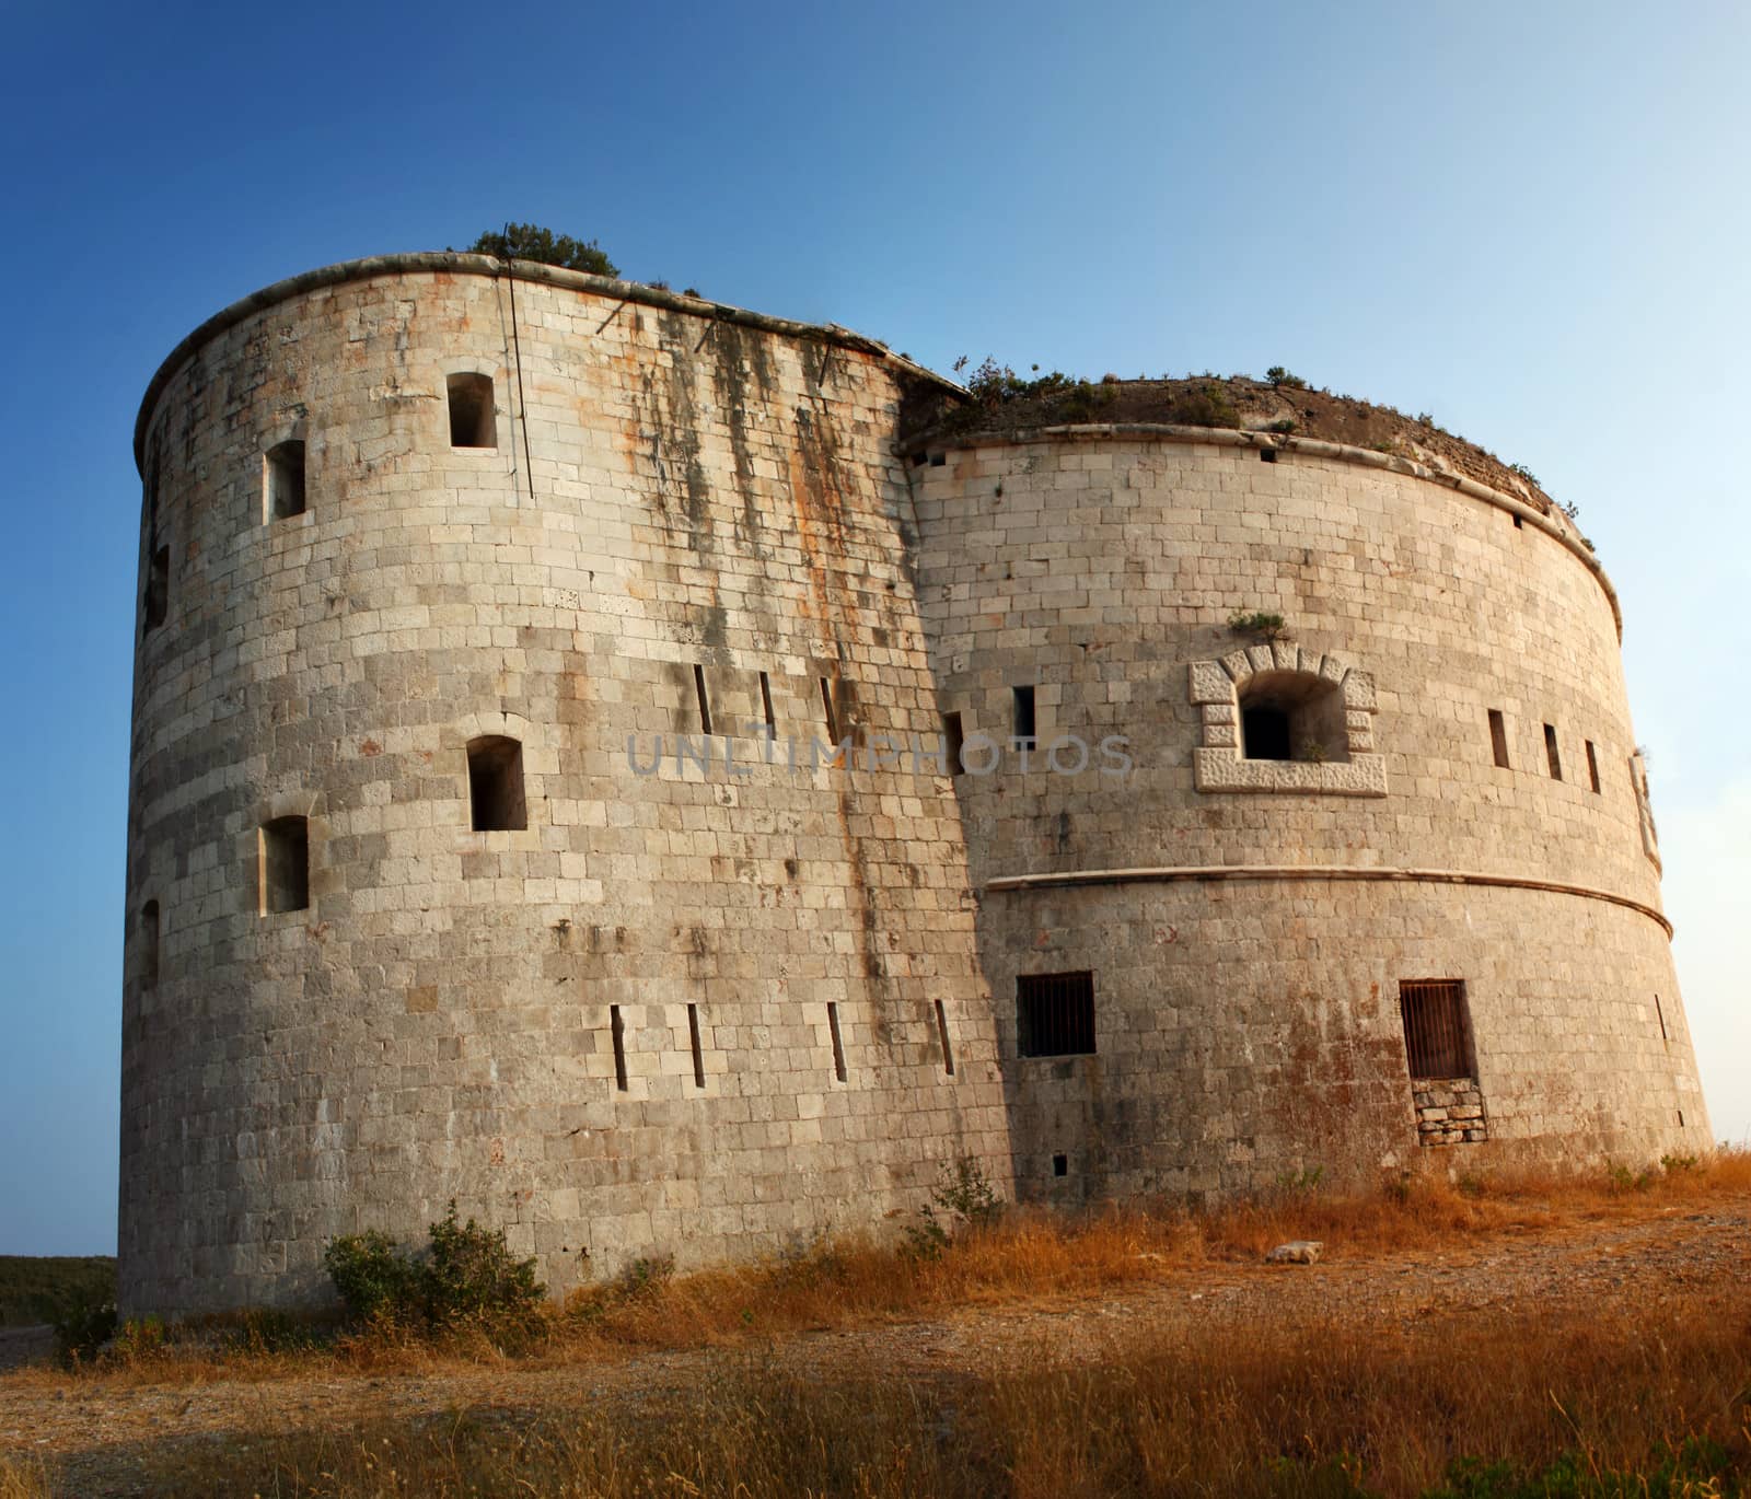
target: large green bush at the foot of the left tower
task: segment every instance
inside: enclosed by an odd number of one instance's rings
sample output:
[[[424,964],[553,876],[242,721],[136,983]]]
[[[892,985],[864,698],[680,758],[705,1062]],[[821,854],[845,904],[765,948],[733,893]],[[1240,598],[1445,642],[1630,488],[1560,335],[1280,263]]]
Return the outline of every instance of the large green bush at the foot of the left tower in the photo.
[[[424,1256],[376,1229],[329,1242],[322,1268],[355,1322],[517,1320],[546,1296],[534,1259],[515,1259],[504,1229],[459,1222],[454,1200],[427,1235]]]

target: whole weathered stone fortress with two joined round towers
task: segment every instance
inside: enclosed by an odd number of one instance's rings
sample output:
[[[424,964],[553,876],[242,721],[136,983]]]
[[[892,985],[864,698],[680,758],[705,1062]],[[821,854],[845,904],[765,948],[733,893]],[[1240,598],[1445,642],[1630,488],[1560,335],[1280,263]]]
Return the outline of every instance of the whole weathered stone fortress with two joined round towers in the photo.
[[[452,1198],[564,1291],[961,1158],[1079,1203],[1705,1151],[1567,517],[1464,445],[1124,412],[468,254],[184,340],[124,1310],[320,1301]]]

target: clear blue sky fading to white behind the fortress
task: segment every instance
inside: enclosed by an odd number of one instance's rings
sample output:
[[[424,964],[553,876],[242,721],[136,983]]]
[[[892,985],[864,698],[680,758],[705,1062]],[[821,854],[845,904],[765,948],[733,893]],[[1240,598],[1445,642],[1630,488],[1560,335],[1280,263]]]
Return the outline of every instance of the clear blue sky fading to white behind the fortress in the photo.
[[[1285,364],[1527,464],[1621,594],[1709,1107],[1751,1131],[1742,4],[4,16],[0,1252],[116,1242],[145,382],[280,277],[508,219],[939,369]]]

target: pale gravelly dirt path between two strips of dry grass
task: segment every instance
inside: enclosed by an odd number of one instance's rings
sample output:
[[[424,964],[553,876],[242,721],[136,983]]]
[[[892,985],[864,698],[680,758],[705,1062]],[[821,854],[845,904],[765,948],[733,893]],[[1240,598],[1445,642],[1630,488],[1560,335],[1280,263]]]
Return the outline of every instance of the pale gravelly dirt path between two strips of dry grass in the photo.
[[[1147,1280],[1098,1296],[970,1308],[939,1320],[751,1347],[798,1375],[830,1378],[881,1368],[897,1378],[949,1382],[1037,1361],[1047,1348],[1054,1361],[1094,1362],[1121,1340],[1171,1340],[1212,1320],[1390,1329],[1627,1296],[1655,1305],[1683,1289],[1728,1284],[1751,1285],[1751,1198],[1716,1200],[1702,1210],[1649,1208],[1628,1221],[1478,1235],[1445,1254],[1354,1254],[1315,1266],[1163,1264]],[[299,1427],[441,1420],[459,1410],[510,1418],[581,1403],[636,1404],[683,1390],[714,1362],[742,1355],[632,1352],[559,1368],[504,1364],[205,1385],[0,1375],[0,1452],[44,1459],[58,1492],[133,1495],[152,1492],[142,1483],[145,1457],[163,1471],[180,1448],[261,1441]]]

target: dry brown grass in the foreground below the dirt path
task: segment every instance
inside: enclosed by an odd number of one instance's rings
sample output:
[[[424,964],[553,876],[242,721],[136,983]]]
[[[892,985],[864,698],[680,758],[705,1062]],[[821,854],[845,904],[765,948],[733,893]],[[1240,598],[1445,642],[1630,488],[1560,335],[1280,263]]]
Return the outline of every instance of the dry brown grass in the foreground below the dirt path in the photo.
[[[1651,1313],[1245,1334],[1194,1324],[1093,1368],[1054,1368],[1042,1348],[995,1380],[823,1382],[728,1352],[641,1406],[452,1411],[184,1455],[173,1492],[1415,1495],[1459,1459],[1539,1476],[1464,1494],[1718,1495],[1751,1478],[1744,1285]],[[1686,1443],[1688,1471],[1662,1481]]]

